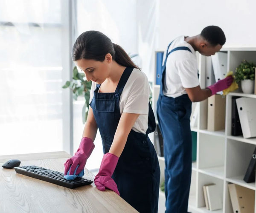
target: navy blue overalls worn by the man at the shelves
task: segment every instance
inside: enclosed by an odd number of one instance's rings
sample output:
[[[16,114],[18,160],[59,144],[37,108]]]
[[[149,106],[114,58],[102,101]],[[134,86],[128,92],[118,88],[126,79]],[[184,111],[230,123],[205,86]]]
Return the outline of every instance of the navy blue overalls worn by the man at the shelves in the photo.
[[[157,118],[164,141],[166,213],[187,213],[192,169],[191,105],[187,94],[177,98],[163,95],[166,61],[174,51],[190,51],[169,44],[162,68]]]

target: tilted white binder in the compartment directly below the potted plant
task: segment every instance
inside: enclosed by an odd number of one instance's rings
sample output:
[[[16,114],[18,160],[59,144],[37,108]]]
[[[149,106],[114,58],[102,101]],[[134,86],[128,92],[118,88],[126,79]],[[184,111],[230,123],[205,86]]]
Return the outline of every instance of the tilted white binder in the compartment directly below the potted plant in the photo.
[[[236,105],[244,138],[256,137],[256,98],[237,98]]]

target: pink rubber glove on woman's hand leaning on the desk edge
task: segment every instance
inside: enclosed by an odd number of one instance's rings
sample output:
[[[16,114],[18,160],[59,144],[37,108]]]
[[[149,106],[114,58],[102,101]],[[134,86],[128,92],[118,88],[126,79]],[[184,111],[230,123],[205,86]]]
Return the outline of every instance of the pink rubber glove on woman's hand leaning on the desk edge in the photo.
[[[115,181],[111,178],[113,172],[116,168],[118,161],[116,155],[106,153],[103,155],[102,163],[99,168],[99,173],[94,178],[94,183],[98,190],[105,191],[105,189],[110,189],[120,196],[120,193],[117,189]]]

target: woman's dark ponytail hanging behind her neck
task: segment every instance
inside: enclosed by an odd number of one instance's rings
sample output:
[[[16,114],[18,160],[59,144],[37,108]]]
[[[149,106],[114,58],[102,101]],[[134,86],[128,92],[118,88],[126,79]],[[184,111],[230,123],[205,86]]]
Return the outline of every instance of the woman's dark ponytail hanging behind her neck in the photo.
[[[114,60],[122,66],[140,69],[130,58],[130,56],[118,44],[112,43],[115,50]]]

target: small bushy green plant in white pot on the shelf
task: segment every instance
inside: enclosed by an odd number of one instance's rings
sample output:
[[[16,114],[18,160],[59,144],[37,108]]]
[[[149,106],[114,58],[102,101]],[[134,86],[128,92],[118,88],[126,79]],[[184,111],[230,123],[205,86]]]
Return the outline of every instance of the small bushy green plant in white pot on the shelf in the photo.
[[[256,63],[243,60],[236,68],[235,80],[241,81],[241,88],[244,93],[250,94],[254,90]]]

